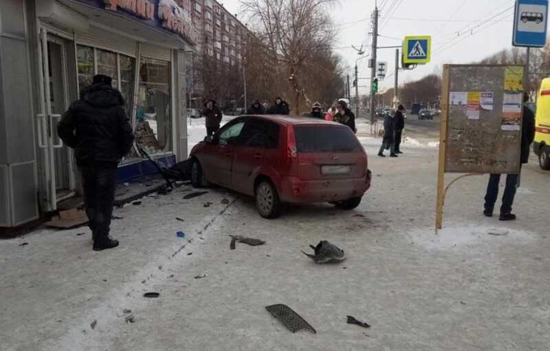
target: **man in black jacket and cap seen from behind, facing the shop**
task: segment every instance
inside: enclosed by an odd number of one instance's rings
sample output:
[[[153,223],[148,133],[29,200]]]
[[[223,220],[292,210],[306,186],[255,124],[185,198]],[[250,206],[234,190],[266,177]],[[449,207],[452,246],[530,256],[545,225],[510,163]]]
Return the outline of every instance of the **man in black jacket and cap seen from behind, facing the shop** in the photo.
[[[111,77],[94,76],[93,84],[80,92],[80,100],[63,114],[57,130],[65,145],[76,149],[94,251],[118,246],[118,240],[109,236],[116,169],[134,136],[124,98],[111,87]]]

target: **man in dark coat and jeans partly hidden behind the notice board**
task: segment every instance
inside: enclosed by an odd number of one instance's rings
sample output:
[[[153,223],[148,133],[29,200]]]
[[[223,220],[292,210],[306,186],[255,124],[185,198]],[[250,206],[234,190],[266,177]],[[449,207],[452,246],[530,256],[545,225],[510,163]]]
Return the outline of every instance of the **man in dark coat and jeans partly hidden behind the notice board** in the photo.
[[[529,101],[529,95],[525,93],[523,95],[523,102]],[[522,117],[522,129],[521,129],[521,155],[520,155],[520,169],[521,164],[529,161],[529,147],[535,138],[535,115],[533,111],[527,106],[523,106]],[[494,204],[498,197],[498,183],[500,182],[500,174],[489,175],[489,184],[487,184],[487,193],[485,194],[485,211],[483,214],[487,217],[492,217]],[[515,220],[516,215],[511,213],[511,205],[514,204],[514,196],[516,196],[516,189],[518,187],[518,174],[508,174],[506,176],[506,187],[504,188],[503,204],[500,206],[501,221]]]

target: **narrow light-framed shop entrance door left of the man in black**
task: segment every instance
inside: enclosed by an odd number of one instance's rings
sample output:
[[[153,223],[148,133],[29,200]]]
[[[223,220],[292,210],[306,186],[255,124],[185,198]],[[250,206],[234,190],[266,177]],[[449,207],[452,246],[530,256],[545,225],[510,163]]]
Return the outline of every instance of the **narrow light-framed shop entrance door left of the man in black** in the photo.
[[[57,202],[76,195],[72,150],[63,145],[57,123],[69,107],[67,39],[41,28],[41,114],[38,115],[38,144],[44,175],[41,182],[43,211],[54,211]]]

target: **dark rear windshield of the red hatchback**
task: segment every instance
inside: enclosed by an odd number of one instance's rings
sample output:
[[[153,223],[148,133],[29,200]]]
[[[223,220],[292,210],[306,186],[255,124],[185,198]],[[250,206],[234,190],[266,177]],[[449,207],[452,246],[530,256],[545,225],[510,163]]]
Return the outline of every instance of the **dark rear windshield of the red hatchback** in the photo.
[[[357,152],[361,145],[346,126],[338,125],[297,125],[296,148],[298,152]]]

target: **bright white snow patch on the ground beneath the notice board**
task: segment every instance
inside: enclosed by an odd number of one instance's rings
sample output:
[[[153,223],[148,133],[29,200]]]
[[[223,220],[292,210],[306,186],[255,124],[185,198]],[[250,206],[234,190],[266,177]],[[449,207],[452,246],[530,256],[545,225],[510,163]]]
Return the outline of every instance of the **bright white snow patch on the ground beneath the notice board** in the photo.
[[[529,242],[536,235],[525,231],[495,226],[450,226],[434,232],[433,228],[408,232],[410,240],[430,251],[464,250],[500,243]]]

